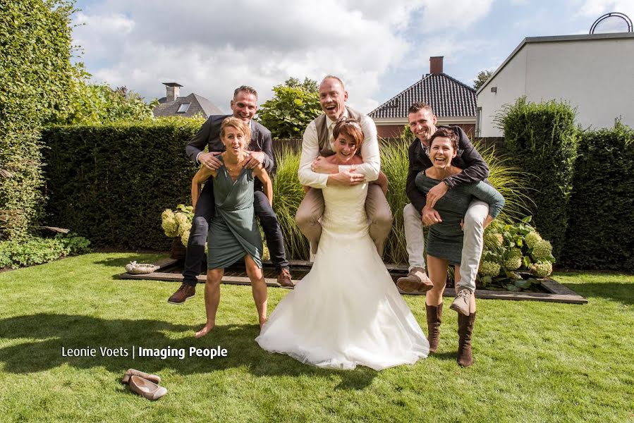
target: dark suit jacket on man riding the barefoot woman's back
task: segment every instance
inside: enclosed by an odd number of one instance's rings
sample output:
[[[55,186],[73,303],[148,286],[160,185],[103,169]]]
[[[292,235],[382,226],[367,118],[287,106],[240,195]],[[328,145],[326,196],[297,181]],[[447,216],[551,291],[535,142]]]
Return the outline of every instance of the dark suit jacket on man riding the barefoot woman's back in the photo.
[[[230,116],[231,115],[209,116],[196,135],[188,142],[188,145],[185,146],[185,152],[194,164],[199,164],[196,161],[196,156],[202,152],[205,147],[209,147],[209,152],[224,152],[225,147],[220,140],[220,125],[225,118]],[[273,172],[275,159],[273,157],[273,141],[270,130],[260,123],[251,121],[251,142],[247,149],[252,152],[264,152],[265,155],[262,166],[267,169],[267,172]]]

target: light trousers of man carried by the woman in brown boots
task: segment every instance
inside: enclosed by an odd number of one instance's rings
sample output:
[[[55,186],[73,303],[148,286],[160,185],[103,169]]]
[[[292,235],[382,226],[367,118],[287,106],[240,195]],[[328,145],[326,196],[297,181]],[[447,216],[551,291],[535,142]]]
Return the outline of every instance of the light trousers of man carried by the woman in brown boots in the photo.
[[[463,226],[465,238],[460,265],[461,280],[458,282],[458,288],[467,288],[471,292],[475,291],[475,276],[477,276],[477,269],[480,268],[480,257],[482,257],[482,247],[484,245],[482,239],[484,236],[484,219],[487,219],[488,214],[489,204],[480,200],[473,200],[469,204]],[[410,270],[414,267],[425,269],[425,259],[423,259],[425,235],[422,233],[420,212],[412,204],[407,204],[403,208],[403,223]]]

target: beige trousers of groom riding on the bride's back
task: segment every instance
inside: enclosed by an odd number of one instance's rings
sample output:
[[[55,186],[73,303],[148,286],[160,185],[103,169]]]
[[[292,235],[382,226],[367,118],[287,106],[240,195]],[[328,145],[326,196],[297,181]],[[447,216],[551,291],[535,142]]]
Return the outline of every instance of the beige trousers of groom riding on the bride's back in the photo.
[[[383,257],[383,247],[392,229],[392,212],[383,194],[376,184],[369,184],[365,199],[365,212],[370,219],[370,238],[377,246],[379,256]],[[319,219],[324,214],[324,195],[322,190],[311,188],[304,195],[295,214],[295,223],[310,242],[310,251],[317,253],[319,238],[322,236],[322,224]],[[420,219],[419,219],[420,220]]]

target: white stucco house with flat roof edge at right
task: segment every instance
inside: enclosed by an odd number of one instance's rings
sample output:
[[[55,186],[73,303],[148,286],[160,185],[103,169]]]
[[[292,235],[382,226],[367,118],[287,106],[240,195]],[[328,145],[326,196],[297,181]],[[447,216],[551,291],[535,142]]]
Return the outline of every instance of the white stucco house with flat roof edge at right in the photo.
[[[477,90],[476,136],[503,136],[494,116],[523,95],[569,102],[583,128],[634,127],[634,33],[525,38]]]

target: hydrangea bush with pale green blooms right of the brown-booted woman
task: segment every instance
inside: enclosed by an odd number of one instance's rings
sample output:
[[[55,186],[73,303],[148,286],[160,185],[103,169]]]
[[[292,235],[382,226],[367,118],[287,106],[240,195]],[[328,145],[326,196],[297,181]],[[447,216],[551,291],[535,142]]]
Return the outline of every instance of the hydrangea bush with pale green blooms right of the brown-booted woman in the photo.
[[[530,219],[528,216],[516,223],[494,221],[489,225],[478,271],[482,286],[518,291],[552,273],[552,245],[530,226]]]

